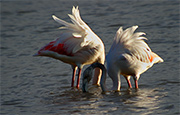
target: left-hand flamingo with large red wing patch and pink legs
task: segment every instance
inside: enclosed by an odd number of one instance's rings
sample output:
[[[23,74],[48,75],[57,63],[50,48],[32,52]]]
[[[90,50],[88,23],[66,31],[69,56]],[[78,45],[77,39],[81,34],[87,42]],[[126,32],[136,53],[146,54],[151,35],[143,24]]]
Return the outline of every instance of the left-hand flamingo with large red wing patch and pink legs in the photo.
[[[53,19],[64,25],[65,29],[59,38],[41,48],[35,56],[47,56],[70,64],[73,69],[71,87],[74,87],[76,70],[78,78],[76,88],[79,88],[81,70],[84,65],[99,62],[104,64],[105,51],[102,40],[81,19],[78,6],[72,8],[72,15],[68,14],[72,23],[68,23],[53,15]],[[101,70],[95,69],[93,84],[99,84]]]

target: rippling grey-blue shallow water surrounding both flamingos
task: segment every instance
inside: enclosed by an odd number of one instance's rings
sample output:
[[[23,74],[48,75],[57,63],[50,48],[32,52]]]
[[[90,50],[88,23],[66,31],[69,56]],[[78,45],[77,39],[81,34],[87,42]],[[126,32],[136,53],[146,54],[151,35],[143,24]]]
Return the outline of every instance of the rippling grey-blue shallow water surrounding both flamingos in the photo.
[[[179,1],[1,1],[1,114],[180,114]],[[33,57],[60,34],[51,15],[69,21],[73,5],[103,40],[106,53],[120,26],[138,25],[164,59],[141,75],[139,90],[82,93],[71,89],[71,67]],[[87,67],[87,66],[86,66]],[[133,80],[132,80],[133,83]],[[108,87],[112,83],[107,78]]]

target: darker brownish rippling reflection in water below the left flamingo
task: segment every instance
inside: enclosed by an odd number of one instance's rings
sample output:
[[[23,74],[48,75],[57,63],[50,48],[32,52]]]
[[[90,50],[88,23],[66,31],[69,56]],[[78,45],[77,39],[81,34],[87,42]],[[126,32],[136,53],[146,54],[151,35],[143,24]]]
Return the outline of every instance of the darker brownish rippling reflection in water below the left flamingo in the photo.
[[[51,105],[52,108],[58,108],[59,114],[68,113],[94,113],[99,108],[99,100],[103,98],[103,95],[93,93],[83,93],[77,89],[65,89],[61,93],[55,92],[49,94],[49,99],[44,98],[42,103]],[[51,110],[49,110],[51,111]]]

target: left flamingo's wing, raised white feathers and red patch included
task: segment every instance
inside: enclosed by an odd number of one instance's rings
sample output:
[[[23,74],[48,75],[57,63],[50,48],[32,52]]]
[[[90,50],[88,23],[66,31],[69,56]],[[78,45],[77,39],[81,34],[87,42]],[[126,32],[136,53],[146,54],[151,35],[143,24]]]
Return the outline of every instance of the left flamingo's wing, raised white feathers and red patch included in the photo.
[[[59,19],[55,15],[52,17],[56,22],[64,25],[64,27],[60,27],[60,29],[65,29],[65,32],[61,33],[59,38],[41,48],[38,55],[50,55],[54,52],[72,56],[93,41],[91,38],[95,35],[88,25],[81,19],[78,7],[73,7],[72,15],[69,14],[72,23]],[[94,36],[87,37],[89,35]]]

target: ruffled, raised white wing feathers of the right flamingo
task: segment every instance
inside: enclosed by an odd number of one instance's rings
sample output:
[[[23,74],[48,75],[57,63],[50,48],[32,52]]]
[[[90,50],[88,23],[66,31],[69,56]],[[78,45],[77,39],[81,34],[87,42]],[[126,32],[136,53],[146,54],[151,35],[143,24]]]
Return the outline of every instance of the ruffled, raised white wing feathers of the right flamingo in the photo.
[[[144,39],[147,38],[143,37],[142,35],[146,35],[144,32],[136,32],[134,31],[138,28],[138,26],[132,26],[123,31],[122,27],[116,33],[115,40],[113,43],[112,48],[121,48],[125,53],[136,57],[138,60],[142,62],[151,62],[151,49],[144,42]]]

